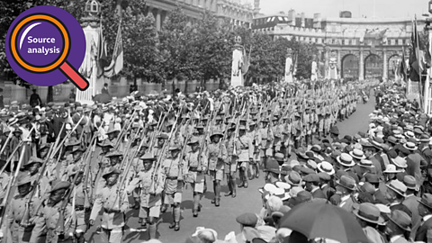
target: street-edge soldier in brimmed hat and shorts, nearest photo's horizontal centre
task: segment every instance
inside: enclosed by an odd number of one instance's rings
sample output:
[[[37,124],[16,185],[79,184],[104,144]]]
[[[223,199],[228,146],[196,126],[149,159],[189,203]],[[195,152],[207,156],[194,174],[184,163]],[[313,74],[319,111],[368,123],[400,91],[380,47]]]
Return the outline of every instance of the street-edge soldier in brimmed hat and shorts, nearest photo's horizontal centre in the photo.
[[[214,203],[216,207],[220,206],[220,181],[223,180],[224,166],[228,159],[227,148],[220,140],[223,134],[218,130],[214,130],[210,136],[211,143],[207,147],[206,157],[209,159],[209,172],[213,181]]]

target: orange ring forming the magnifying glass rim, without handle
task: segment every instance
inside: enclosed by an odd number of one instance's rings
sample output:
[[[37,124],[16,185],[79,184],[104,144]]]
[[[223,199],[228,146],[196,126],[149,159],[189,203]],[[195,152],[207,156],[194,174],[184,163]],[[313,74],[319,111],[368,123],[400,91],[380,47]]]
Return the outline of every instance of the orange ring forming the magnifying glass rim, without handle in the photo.
[[[31,65],[28,65],[27,63],[25,63],[23,61],[23,59],[20,57],[20,55],[18,55],[18,53],[16,52],[16,47],[15,47],[15,40],[16,37],[18,35],[18,31],[21,29],[21,27],[23,27],[24,24],[29,23],[33,20],[46,20],[49,21],[50,23],[54,23],[58,29],[60,29],[61,34],[63,35],[63,38],[65,39],[65,43],[64,43],[64,49],[63,52],[60,56],[60,58],[58,58],[58,60],[54,63],[49,65],[48,67],[32,67]],[[44,15],[44,14],[36,14],[36,15],[31,15],[27,18],[25,18],[22,22],[18,23],[18,25],[15,26],[14,31],[12,33],[12,38],[11,38],[11,49],[12,49],[12,55],[14,56],[15,60],[25,69],[30,70],[32,72],[36,72],[36,73],[43,73],[43,72],[49,72],[55,68],[57,68],[60,64],[62,64],[65,60],[65,58],[67,58],[67,53],[69,50],[69,37],[67,35],[67,31],[65,29],[65,27],[63,26],[62,23],[59,23],[57,19],[49,16],[49,15]]]

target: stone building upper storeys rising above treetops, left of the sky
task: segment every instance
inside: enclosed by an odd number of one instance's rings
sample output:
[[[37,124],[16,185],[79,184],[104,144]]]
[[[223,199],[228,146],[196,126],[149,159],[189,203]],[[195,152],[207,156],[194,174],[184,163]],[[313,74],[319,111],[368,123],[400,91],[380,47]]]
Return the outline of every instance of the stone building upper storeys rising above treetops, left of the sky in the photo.
[[[250,4],[240,4],[239,0],[146,0],[146,4],[146,14],[153,14],[158,31],[162,28],[167,15],[177,5],[183,8],[184,14],[188,16],[191,23],[201,19],[204,11],[211,11],[220,18],[228,19],[234,25],[249,28],[254,14],[259,11],[257,10],[259,0],[256,0],[255,7]]]

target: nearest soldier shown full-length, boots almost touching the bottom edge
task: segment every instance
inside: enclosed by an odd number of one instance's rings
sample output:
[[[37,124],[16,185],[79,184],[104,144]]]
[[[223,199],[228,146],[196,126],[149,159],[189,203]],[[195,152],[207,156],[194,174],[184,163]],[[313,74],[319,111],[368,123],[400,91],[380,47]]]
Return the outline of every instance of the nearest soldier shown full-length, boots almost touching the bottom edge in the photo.
[[[156,238],[165,175],[163,170],[155,168],[156,157],[153,157],[151,153],[139,157],[139,160],[142,161],[142,169],[130,181],[129,186],[126,187],[126,193],[130,194],[140,186],[139,223],[143,228],[148,226],[149,238]]]

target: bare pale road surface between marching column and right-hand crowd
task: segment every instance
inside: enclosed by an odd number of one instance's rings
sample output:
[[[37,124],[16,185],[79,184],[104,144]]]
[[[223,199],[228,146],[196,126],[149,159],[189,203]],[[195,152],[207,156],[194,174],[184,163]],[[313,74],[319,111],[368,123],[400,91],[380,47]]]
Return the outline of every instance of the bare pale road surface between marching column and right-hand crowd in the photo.
[[[338,128],[341,134],[354,135],[359,130],[366,130],[368,125],[368,114],[374,110],[374,98],[367,104],[357,104],[357,111],[346,121],[338,122]],[[211,181],[208,180],[210,184]],[[264,181],[261,176],[249,182],[247,189],[238,189],[238,196],[236,198],[224,197],[223,193],[227,191],[227,187],[223,186],[222,199],[220,208],[216,208],[211,204],[211,193],[207,193],[202,201],[202,211],[198,218],[192,216],[192,190],[187,188],[184,191],[184,202],[182,203],[182,215],[180,226],[181,229],[175,232],[173,229],[168,229],[169,224],[172,222],[171,213],[166,212],[163,219],[158,226],[160,234],[159,239],[164,243],[183,243],[184,239],[190,236],[196,227],[203,226],[206,228],[215,229],[219,238],[223,239],[229,231],[239,231],[236,217],[247,211],[258,212],[261,208],[260,193],[257,191],[260,186],[263,186]],[[210,191],[211,184],[209,185]],[[145,231],[137,231],[138,224],[138,211],[130,211],[128,216],[133,216],[128,222],[126,233],[123,242],[142,242],[148,239],[148,233]],[[96,220],[97,225],[99,220]],[[89,242],[101,242],[100,237],[95,233],[96,227],[94,226],[87,232]]]

